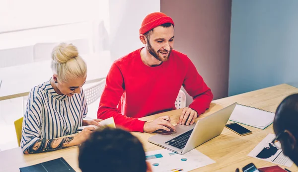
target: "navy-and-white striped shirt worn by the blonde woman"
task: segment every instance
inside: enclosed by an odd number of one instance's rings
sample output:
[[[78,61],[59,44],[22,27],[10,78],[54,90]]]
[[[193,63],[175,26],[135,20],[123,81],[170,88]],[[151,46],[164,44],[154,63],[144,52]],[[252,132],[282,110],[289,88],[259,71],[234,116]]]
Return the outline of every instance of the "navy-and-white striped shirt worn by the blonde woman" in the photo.
[[[25,152],[39,139],[74,134],[88,112],[84,92],[72,97],[58,94],[50,81],[31,89],[22,125],[21,148]]]

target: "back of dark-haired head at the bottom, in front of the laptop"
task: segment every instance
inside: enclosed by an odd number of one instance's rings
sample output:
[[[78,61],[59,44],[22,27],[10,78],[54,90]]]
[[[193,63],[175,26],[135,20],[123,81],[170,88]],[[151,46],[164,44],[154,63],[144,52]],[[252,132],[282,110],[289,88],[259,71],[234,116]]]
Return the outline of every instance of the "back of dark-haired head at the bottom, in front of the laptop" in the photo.
[[[78,165],[82,172],[146,172],[142,143],[122,129],[94,131],[79,147]]]

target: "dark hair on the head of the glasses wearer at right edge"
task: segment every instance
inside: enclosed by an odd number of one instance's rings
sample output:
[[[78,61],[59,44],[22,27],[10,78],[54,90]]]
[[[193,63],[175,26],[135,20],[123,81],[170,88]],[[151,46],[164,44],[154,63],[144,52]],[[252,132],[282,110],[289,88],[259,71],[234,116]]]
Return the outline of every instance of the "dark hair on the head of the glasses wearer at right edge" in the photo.
[[[298,93],[286,97],[278,106],[274,117],[274,130],[279,134],[289,130],[298,138]]]

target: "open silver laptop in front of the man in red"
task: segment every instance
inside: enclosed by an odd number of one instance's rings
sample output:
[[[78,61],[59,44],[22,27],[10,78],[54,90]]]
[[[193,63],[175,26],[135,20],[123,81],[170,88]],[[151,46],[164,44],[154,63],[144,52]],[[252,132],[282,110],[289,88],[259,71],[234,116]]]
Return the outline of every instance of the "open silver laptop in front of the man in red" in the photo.
[[[178,154],[185,154],[195,147],[220,135],[237,103],[233,103],[192,125],[176,125],[175,132],[158,133],[148,141]]]

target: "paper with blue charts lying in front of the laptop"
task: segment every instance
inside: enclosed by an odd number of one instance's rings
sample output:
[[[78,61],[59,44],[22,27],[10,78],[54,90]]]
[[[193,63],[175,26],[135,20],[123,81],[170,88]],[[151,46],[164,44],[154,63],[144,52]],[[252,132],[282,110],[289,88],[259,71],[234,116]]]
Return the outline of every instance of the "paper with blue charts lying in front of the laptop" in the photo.
[[[193,149],[184,155],[167,149],[146,152],[146,159],[153,172],[189,172],[215,163],[206,155]]]

